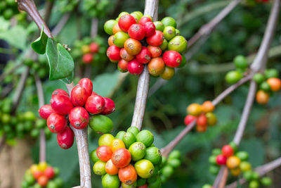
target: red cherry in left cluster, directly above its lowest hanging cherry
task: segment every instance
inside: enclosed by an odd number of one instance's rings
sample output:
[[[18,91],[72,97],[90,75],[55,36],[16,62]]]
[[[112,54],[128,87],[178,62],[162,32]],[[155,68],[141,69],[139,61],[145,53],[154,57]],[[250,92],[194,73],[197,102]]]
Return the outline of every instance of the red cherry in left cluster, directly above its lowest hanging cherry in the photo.
[[[63,132],[67,127],[67,119],[58,113],[52,113],[47,119],[48,129],[53,133]]]

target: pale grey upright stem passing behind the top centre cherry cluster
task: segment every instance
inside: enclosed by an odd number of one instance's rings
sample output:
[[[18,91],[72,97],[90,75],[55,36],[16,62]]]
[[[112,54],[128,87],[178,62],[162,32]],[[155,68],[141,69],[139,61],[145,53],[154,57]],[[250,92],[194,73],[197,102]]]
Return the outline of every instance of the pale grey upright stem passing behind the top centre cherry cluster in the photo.
[[[146,0],[144,15],[151,15],[153,20],[157,20],[158,0]],[[131,126],[137,127],[141,130],[143,125],[143,117],[145,115],[145,106],[148,99],[148,90],[150,82],[150,73],[148,66],[145,65],[143,73],[138,77],[138,88],[136,91],[136,102],[133,110],[133,120]]]

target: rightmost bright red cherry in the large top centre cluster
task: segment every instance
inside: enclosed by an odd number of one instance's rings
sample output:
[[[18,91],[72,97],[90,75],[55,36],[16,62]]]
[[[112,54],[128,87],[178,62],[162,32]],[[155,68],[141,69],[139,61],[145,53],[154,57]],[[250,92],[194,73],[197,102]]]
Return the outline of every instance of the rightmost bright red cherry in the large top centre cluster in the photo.
[[[179,54],[177,51],[169,50],[165,51],[165,53],[163,54],[163,60],[165,65],[167,65],[168,67],[176,68],[181,65],[182,58],[181,54]]]

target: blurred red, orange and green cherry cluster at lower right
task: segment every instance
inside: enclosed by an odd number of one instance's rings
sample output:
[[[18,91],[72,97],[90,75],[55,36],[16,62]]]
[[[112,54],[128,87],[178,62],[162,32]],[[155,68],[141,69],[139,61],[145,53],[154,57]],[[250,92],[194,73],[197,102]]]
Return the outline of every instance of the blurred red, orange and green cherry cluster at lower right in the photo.
[[[218,174],[219,166],[226,165],[231,175],[237,177],[243,173],[243,177],[249,181],[250,188],[258,188],[259,182],[263,186],[270,186],[272,181],[269,177],[259,177],[259,173],[251,170],[251,163],[248,161],[249,153],[247,151],[237,151],[237,145],[234,142],[223,146],[222,149],[213,149],[212,155],[209,157],[210,173]],[[204,185],[205,187],[210,185]]]

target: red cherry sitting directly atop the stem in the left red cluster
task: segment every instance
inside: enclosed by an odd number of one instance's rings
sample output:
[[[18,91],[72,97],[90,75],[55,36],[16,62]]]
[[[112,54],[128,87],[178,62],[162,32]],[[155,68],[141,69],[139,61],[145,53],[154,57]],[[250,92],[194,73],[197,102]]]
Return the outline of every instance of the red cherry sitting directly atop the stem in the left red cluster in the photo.
[[[83,130],[89,123],[89,113],[85,108],[77,106],[72,108],[70,115],[68,116],[70,124],[77,130]]]

